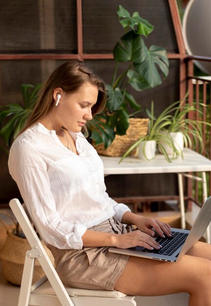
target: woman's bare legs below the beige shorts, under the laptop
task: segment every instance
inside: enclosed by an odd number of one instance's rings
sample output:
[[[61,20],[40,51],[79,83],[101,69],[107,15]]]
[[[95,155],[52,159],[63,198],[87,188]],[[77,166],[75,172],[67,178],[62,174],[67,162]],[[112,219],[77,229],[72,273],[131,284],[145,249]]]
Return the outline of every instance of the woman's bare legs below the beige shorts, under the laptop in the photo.
[[[131,256],[114,288],[131,295],[156,296],[188,292],[190,306],[211,306],[211,245],[203,244],[206,258],[200,258],[196,243],[178,262],[160,262]]]

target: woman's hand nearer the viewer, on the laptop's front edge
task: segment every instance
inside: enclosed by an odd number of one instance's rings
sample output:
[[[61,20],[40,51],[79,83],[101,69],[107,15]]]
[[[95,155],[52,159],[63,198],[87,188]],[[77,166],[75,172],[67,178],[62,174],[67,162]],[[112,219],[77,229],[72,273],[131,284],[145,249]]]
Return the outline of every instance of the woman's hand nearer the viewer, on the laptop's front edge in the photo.
[[[140,230],[134,230],[127,234],[115,234],[114,237],[114,246],[121,249],[134,246],[143,246],[149,250],[161,248],[151,236]]]

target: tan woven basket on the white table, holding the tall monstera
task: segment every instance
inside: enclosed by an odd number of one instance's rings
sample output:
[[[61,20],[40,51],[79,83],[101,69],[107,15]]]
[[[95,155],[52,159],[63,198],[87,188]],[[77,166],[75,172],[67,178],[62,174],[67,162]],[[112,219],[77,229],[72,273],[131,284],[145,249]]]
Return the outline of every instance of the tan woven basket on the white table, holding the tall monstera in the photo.
[[[112,144],[105,150],[104,144],[95,145],[98,154],[106,156],[122,156],[127,149],[136,142],[140,135],[147,135],[148,133],[148,118],[130,118],[129,128],[126,135],[116,135]],[[130,156],[137,156],[137,149],[130,152]]]

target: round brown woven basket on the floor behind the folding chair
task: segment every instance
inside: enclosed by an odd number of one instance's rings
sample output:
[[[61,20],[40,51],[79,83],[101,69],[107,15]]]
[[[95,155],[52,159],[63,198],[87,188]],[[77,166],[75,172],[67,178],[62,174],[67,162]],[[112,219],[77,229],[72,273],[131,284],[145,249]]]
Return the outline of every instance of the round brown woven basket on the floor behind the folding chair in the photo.
[[[15,225],[16,220],[10,216],[7,212],[0,212],[11,219],[13,219]],[[0,260],[2,265],[2,272],[5,279],[12,284],[21,284],[23,266],[26,256],[26,251],[31,250],[31,246],[26,238],[22,238],[13,234],[14,229],[9,229],[8,226],[0,219],[0,223],[2,223],[7,230],[7,238],[0,250]],[[48,256],[51,261],[54,262],[52,253],[50,250],[44,245]],[[38,281],[44,275],[44,271],[38,260],[35,260],[35,268],[33,274],[33,283]]]

